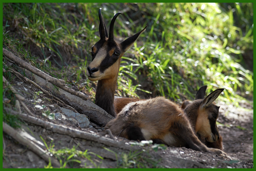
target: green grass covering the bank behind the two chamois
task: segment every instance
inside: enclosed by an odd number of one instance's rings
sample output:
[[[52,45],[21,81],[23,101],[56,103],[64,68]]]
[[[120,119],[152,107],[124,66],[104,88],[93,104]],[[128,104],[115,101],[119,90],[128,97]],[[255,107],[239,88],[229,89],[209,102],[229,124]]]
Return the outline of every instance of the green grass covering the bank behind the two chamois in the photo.
[[[148,26],[124,54],[117,95],[139,97],[145,80],[154,89],[148,96],[175,101],[194,98],[202,85],[207,94],[225,88],[226,102],[253,94],[253,72],[243,60],[253,51],[251,3],[4,3],[3,25],[23,35],[15,36],[16,45],[38,49],[31,53],[42,70],[90,91],[85,72],[99,40],[100,7],[107,28],[116,12],[123,13],[115,23],[118,40]]]

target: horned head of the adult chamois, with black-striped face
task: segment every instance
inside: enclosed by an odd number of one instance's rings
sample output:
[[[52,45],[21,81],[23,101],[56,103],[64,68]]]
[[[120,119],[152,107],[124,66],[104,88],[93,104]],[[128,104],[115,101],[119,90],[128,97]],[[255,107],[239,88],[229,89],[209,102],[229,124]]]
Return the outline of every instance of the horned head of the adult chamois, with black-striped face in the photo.
[[[146,29],[146,27],[127,38],[121,43],[117,43],[114,40],[114,22],[118,15],[122,14],[118,12],[111,20],[109,35],[101,15],[101,8],[99,9],[99,36],[100,40],[92,46],[92,62],[89,64],[86,75],[89,80],[96,81],[102,79],[116,79],[119,72],[121,57],[124,52],[130,48],[138,36]],[[116,83],[115,83],[116,84]]]

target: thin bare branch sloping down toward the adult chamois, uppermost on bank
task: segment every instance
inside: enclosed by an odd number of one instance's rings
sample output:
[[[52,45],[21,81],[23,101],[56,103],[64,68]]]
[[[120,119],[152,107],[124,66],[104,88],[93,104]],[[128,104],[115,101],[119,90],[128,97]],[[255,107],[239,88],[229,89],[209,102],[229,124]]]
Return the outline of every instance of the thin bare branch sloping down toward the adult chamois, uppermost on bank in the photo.
[[[88,97],[86,95],[84,95],[83,93],[79,92],[79,91],[75,91],[72,88],[69,88],[66,84],[64,80],[60,80],[54,77],[49,76],[48,74],[40,71],[39,69],[33,67],[32,65],[30,65],[29,63],[25,62],[24,60],[20,59],[19,57],[15,56],[14,54],[12,54],[12,52],[6,50],[5,48],[3,48],[3,54],[11,59],[12,61],[14,61],[16,64],[19,64],[20,66],[22,66],[23,68],[26,68],[27,70],[33,72],[34,74],[38,75],[41,78],[44,78],[46,80],[46,84],[48,82],[56,85],[57,87],[69,92],[70,94],[76,95],[80,98],[82,98],[83,100],[87,100]]]

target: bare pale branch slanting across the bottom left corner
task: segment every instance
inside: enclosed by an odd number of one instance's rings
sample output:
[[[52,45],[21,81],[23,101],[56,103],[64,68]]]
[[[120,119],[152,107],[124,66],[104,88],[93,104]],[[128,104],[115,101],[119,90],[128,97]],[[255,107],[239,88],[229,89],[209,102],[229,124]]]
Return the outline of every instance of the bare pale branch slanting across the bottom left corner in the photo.
[[[50,159],[53,167],[58,167],[58,168],[60,167],[60,163],[58,160],[56,160],[54,157],[51,157],[46,150],[43,150],[33,141],[30,141],[28,138],[22,136],[21,130],[17,131],[13,127],[3,122],[3,131],[9,136],[13,137],[16,141],[18,141],[22,145],[27,146],[30,150],[32,150],[34,153],[36,153],[38,156],[44,159],[44,161],[46,161],[47,163],[49,163],[49,159]]]

